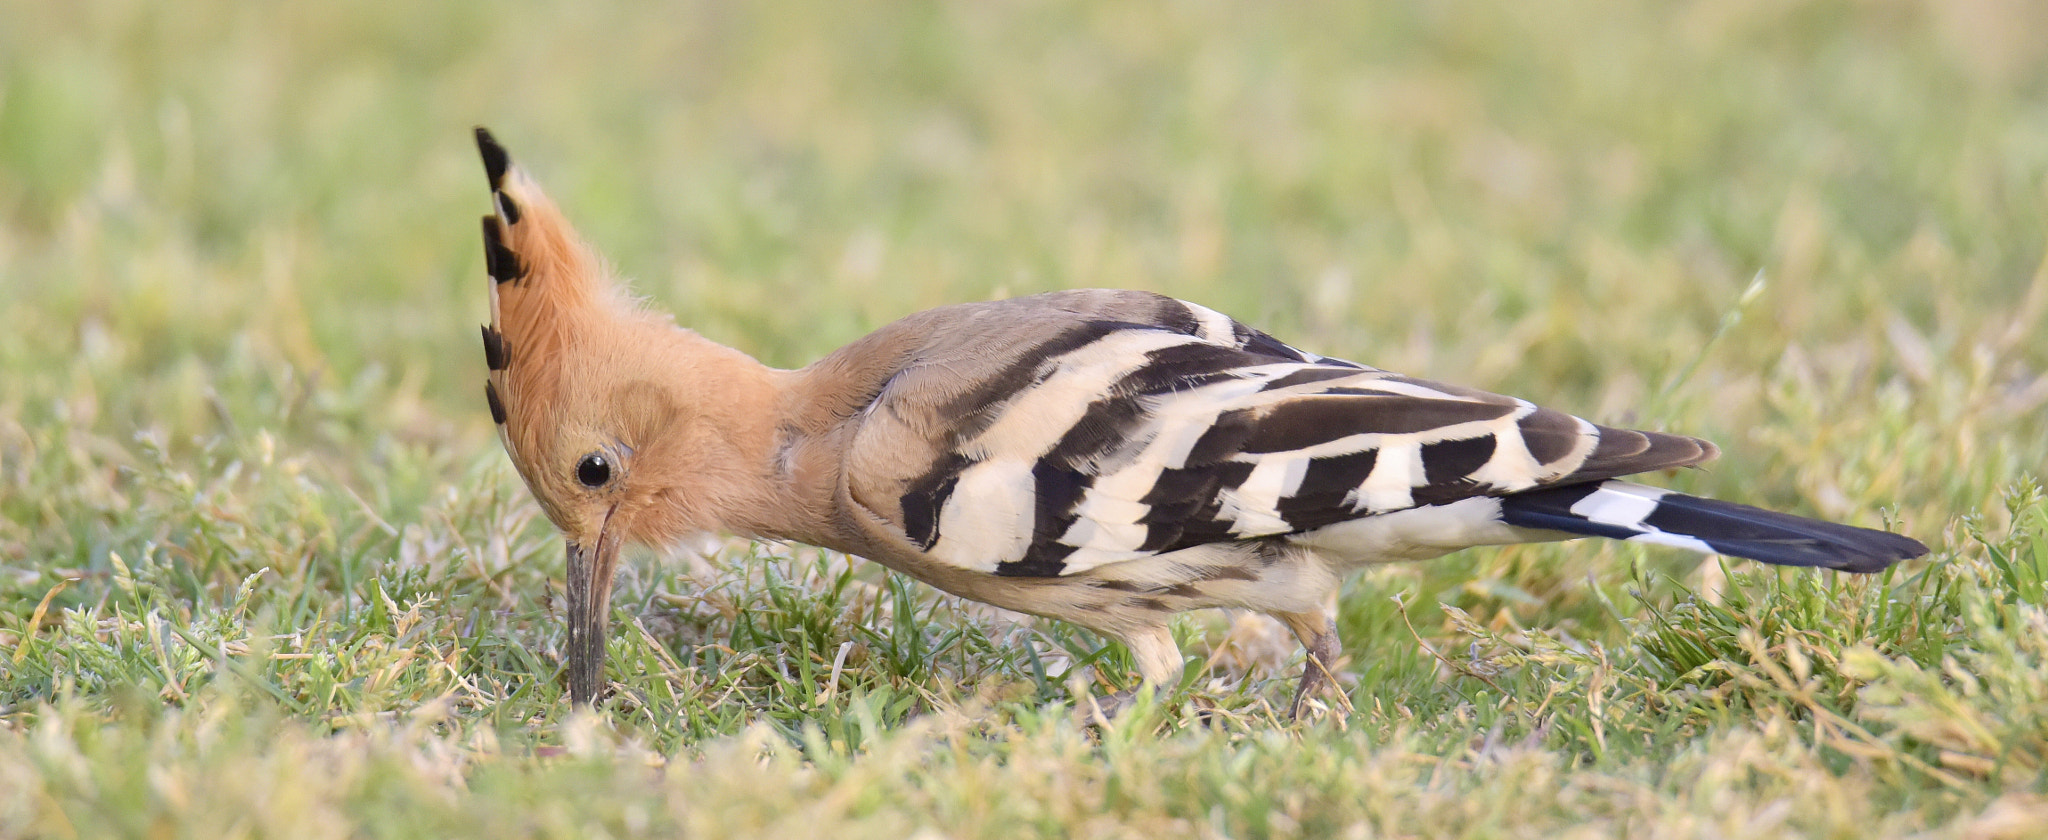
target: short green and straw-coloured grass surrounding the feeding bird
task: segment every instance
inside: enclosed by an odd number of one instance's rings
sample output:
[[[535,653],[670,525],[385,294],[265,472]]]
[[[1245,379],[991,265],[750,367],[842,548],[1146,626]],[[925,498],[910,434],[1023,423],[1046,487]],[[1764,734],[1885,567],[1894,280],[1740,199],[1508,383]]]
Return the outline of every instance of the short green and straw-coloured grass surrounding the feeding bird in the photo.
[[[1931,836],[2048,826],[2028,4],[25,4],[0,27],[0,836]],[[492,125],[776,365],[1139,287],[1716,438],[1933,545],[1350,582],[1354,707],[805,547],[639,555],[616,699],[483,412]]]

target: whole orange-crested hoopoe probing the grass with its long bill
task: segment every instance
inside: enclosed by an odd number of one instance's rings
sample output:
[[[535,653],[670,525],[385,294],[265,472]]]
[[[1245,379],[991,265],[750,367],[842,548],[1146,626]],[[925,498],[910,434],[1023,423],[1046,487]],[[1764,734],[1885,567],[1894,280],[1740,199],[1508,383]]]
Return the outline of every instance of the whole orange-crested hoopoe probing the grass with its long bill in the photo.
[[[727,531],[866,557],[1063,619],[1174,684],[1176,613],[1268,613],[1303,641],[1292,713],[1337,658],[1362,565],[1608,537],[1878,572],[1909,537],[1620,481],[1712,443],[1317,356],[1141,291],[920,311],[801,369],[633,299],[477,129],[492,324],[483,395],[567,541],[573,703],[598,697],[618,549]]]

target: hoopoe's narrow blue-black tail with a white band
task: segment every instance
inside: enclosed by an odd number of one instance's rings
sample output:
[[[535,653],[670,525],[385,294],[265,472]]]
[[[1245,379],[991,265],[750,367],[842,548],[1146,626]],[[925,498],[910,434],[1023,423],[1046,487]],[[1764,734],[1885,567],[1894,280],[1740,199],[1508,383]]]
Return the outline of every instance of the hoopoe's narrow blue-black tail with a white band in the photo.
[[[1501,520],[1520,529],[1843,572],[1882,572],[1901,559],[1927,553],[1917,539],[1886,531],[1821,522],[1616,479],[1505,496]]]

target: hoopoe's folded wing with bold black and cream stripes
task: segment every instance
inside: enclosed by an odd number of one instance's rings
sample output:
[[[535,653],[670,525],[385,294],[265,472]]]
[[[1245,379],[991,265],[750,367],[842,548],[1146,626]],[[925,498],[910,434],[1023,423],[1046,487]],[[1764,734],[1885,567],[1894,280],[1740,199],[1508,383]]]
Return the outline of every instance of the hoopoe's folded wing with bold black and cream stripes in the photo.
[[[1018,352],[1001,387],[946,406],[897,500],[907,539],[954,568],[1061,576],[1714,453],[1223,336],[1098,320]]]

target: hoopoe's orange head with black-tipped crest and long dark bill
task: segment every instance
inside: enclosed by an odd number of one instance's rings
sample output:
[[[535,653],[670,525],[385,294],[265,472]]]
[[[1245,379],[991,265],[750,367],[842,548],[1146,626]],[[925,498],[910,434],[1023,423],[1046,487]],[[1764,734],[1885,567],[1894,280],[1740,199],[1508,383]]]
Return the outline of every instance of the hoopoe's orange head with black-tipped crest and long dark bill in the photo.
[[[688,336],[631,299],[541,188],[477,129],[494,213],[485,400],[498,434],[567,541],[569,697],[596,699],[612,570],[625,543],[666,543],[692,522],[690,481],[717,453],[678,373],[702,365]]]

